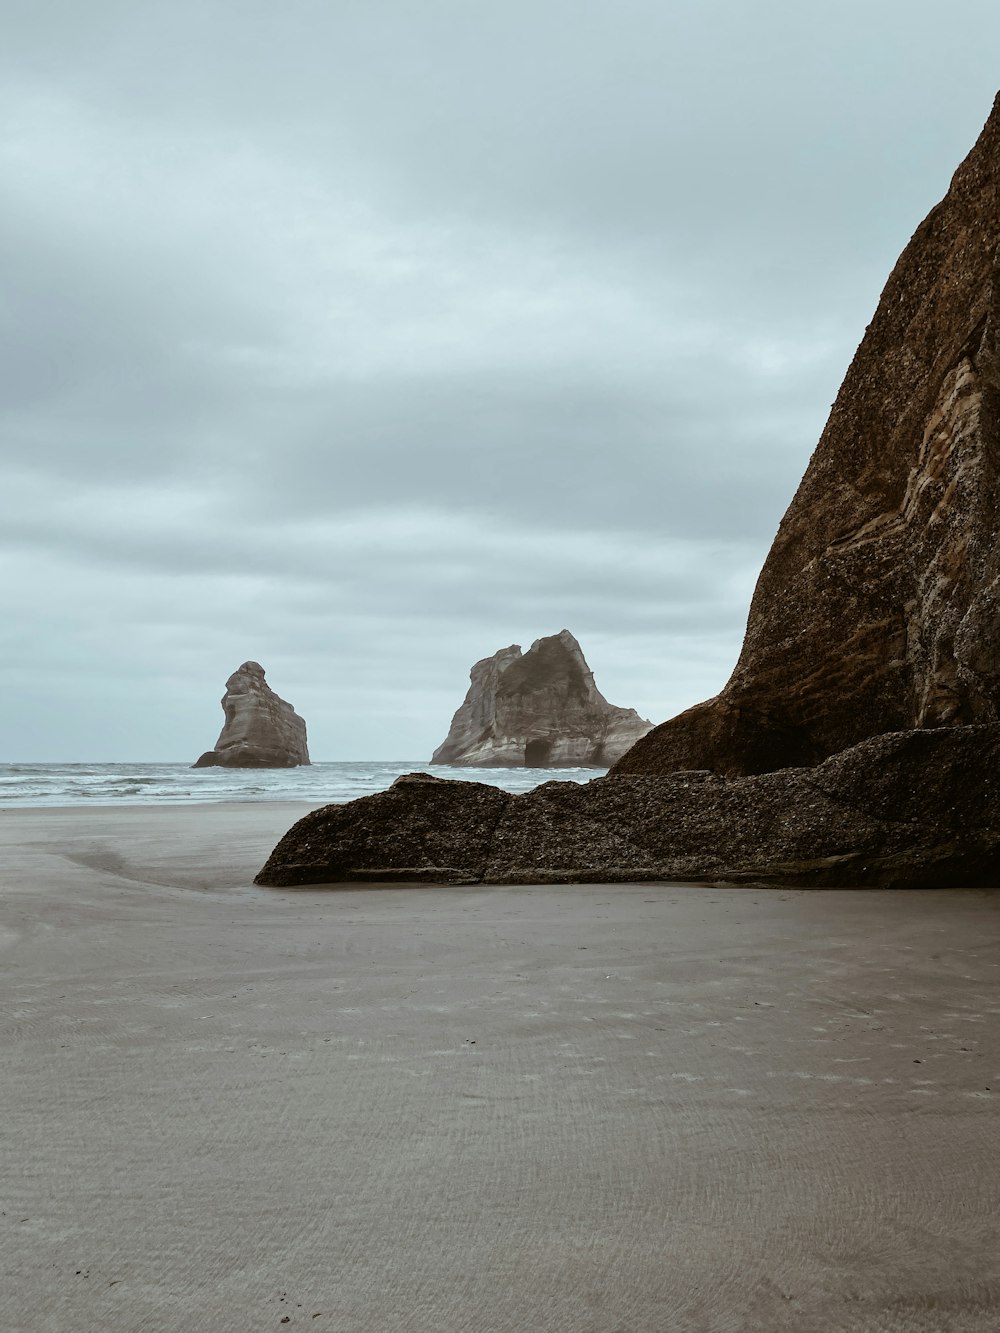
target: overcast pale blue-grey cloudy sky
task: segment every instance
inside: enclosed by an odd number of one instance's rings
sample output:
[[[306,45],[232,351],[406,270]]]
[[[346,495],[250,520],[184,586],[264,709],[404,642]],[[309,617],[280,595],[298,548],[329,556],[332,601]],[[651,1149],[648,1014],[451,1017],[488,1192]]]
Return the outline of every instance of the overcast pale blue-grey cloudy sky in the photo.
[[[925,0],[0,0],[0,762],[193,761],[260,661],[427,760],[571,629],[721,688],[1000,85]]]

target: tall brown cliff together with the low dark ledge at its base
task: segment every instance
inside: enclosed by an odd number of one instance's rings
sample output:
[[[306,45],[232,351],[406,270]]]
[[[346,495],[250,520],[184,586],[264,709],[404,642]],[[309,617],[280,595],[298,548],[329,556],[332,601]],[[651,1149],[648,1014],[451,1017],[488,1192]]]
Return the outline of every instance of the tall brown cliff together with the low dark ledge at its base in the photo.
[[[295,825],[261,884],[1000,882],[1000,96],[903,252],[719,696],[607,777],[427,777]]]

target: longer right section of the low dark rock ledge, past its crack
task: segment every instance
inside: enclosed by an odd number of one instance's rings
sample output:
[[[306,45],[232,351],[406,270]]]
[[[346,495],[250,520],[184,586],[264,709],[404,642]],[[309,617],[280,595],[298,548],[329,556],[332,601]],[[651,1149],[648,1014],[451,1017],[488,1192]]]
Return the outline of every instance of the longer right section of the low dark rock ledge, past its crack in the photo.
[[[943,886],[1000,874],[1000,726],[879,736],[816,768],[549,782],[499,825],[487,874]]]

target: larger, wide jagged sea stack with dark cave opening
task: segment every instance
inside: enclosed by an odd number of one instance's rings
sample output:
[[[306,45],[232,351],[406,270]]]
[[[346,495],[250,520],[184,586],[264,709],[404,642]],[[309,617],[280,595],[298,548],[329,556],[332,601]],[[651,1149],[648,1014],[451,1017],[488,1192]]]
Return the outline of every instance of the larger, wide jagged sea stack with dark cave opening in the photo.
[[[609,704],[568,629],[477,661],[469,692],[432,764],[607,768],[652,726]]]

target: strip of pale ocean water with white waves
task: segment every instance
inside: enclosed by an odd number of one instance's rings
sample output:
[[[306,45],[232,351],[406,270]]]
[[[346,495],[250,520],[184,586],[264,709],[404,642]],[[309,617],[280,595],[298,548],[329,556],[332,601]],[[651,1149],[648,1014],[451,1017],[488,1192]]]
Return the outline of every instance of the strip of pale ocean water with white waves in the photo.
[[[529,792],[540,782],[588,782],[596,768],[448,768],[419,760],[312,764],[308,768],[191,768],[189,764],[0,764],[0,808],[25,805],[169,805],[212,801],[352,801],[383,792],[400,773],[489,782]]]

